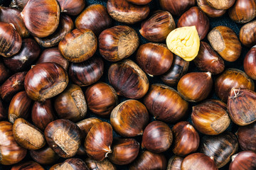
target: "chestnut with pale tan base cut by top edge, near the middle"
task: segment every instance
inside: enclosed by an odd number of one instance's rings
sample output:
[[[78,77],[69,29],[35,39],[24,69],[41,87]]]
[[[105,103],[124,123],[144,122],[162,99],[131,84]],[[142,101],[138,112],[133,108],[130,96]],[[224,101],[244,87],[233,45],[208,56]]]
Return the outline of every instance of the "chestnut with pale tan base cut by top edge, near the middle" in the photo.
[[[142,21],[149,15],[149,5],[134,5],[126,0],[108,0],[107,12],[121,23],[134,24]]]

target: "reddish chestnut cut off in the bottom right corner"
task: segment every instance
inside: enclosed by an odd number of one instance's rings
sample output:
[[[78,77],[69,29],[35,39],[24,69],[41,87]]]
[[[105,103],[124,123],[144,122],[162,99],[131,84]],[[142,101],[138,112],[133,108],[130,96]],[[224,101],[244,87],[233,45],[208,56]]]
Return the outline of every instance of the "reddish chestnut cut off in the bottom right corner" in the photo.
[[[256,154],[252,151],[242,151],[232,156],[229,170],[256,169]]]

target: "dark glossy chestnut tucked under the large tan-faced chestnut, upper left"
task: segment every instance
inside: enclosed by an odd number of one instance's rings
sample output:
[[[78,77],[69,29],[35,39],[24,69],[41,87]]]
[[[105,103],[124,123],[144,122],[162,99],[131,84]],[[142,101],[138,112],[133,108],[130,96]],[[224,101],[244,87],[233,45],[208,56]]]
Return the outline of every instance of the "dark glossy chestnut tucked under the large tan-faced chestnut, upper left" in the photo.
[[[104,63],[101,57],[94,56],[80,63],[71,63],[68,75],[78,86],[89,86],[102,77]]]

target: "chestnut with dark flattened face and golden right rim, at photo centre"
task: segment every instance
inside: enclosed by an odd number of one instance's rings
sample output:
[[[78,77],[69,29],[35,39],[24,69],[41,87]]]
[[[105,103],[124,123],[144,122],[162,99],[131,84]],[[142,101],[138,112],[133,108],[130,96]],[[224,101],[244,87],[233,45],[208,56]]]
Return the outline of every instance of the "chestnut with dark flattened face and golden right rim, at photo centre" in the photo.
[[[142,98],[149,89],[149,79],[132,60],[112,64],[108,71],[108,79],[117,95],[127,98]]]

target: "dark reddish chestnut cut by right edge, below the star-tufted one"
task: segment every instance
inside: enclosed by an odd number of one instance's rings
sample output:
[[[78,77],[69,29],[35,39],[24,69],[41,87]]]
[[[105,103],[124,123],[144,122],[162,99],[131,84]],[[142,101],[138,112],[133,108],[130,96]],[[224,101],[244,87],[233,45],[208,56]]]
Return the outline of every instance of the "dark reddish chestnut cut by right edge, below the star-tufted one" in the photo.
[[[239,146],[242,150],[251,150],[256,152],[256,123],[240,126],[238,132]]]

